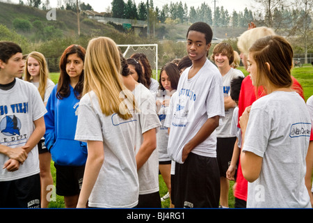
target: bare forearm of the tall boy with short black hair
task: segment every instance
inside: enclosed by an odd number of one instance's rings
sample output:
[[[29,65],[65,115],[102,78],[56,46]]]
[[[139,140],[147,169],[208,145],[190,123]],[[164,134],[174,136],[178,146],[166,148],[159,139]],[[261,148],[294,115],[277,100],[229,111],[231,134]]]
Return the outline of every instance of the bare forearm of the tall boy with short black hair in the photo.
[[[188,154],[193,150],[193,148],[201,144],[202,141],[207,139],[207,137],[209,137],[211,133],[214,132],[216,128],[218,128],[219,119],[220,116],[208,118],[207,121],[202,125],[200,130],[197,132],[197,134],[195,134],[195,137],[188,141],[182,152],[182,162],[186,160]]]

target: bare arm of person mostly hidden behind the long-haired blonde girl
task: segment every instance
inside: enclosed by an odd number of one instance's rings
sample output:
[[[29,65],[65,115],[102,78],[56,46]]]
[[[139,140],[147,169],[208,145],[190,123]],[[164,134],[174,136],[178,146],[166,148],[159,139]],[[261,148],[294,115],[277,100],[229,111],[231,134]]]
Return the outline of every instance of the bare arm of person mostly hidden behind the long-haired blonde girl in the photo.
[[[157,132],[153,128],[143,133],[143,143],[136,155],[137,170],[143,167],[155,148],[157,148]]]

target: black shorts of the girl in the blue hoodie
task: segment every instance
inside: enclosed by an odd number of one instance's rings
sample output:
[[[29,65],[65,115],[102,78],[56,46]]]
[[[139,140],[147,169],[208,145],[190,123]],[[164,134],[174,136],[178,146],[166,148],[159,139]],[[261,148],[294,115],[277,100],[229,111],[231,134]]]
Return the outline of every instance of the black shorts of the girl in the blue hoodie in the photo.
[[[61,166],[54,163],[54,167],[56,167],[56,194],[60,196],[79,194],[83,184],[85,166]]]

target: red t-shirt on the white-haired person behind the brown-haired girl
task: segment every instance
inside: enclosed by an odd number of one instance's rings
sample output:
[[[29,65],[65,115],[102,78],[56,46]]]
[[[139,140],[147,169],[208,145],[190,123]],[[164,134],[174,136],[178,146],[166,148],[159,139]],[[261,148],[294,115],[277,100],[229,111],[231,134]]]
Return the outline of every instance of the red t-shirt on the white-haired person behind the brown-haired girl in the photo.
[[[292,76],[291,76],[292,77]],[[304,94],[303,94],[303,88],[300,85],[300,83],[296,80],[296,78],[292,77],[293,79],[293,86],[292,89],[294,89],[296,92],[299,93],[299,95],[303,98],[304,100]],[[241,84],[241,90],[239,94],[239,102],[238,102],[238,107],[239,107],[239,112],[238,112],[238,118],[243,114],[245,111],[246,107],[252,105],[257,98],[261,98],[262,96],[265,95],[264,89],[259,87],[259,90],[255,91],[255,86],[252,85],[251,77],[248,75],[243,79],[242,84]],[[238,127],[240,128],[239,121],[238,121]],[[313,140],[313,133],[311,131],[311,137],[310,140]],[[243,177],[242,171],[241,171],[241,163],[240,163],[240,157],[239,157],[239,164],[237,168],[237,177],[236,177],[236,189],[234,191],[234,197],[247,201],[247,193],[248,193],[248,181]]]

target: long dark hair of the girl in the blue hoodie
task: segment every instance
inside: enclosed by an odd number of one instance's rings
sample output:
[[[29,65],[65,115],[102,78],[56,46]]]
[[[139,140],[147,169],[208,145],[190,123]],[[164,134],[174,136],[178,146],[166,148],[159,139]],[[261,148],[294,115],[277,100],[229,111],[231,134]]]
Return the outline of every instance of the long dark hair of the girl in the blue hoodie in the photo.
[[[67,57],[71,54],[77,54],[81,58],[81,60],[85,61],[86,49],[81,47],[80,45],[70,45],[67,47],[60,59],[60,77],[58,79],[58,88],[56,90],[56,98],[63,99],[67,98],[70,95],[70,76],[66,72],[66,62]],[[81,99],[81,95],[83,93],[83,71],[79,76],[79,82],[74,88],[74,94],[77,99]]]

